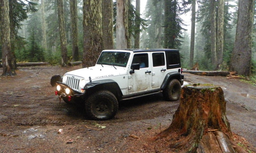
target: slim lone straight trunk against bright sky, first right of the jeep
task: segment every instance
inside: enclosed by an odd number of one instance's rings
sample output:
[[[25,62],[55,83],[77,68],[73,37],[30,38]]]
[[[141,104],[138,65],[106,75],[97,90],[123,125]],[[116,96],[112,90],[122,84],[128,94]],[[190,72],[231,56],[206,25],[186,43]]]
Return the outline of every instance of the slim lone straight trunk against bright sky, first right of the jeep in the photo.
[[[194,50],[195,50],[195,29],[196,29],[196,0],[192,1],[192,14],[191,14],[191,37],[190,37],[190,55],[189,66],[192,67],[194,63]]]

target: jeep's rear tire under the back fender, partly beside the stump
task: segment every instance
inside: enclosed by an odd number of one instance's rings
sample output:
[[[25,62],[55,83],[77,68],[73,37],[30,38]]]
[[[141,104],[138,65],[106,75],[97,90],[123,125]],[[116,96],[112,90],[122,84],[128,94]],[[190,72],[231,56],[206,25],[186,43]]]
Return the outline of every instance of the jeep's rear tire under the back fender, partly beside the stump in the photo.
[[[166,101],[176,101],[180,98],[181,85],[177,79],[172,79],[168,82],[163,90],[163,97]]]

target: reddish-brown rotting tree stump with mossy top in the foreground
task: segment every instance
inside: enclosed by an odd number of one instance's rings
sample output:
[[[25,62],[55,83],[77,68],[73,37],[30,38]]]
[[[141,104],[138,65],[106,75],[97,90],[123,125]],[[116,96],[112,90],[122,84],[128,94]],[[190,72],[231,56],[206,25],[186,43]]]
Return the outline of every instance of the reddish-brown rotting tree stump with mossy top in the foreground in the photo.
[[[243,152],[234,147],[226,101],[222,89],[216,86],[183,87],[171,125],[153,140],[164,137],[170,144],[167,152]]]

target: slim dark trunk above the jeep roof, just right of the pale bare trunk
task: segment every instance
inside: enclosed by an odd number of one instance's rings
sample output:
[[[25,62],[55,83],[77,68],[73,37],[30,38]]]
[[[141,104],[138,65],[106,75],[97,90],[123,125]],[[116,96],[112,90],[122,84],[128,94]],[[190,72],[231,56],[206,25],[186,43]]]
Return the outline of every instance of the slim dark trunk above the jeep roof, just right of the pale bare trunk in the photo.
[[[136,0],[134,48],[140,48],[140,0]]]

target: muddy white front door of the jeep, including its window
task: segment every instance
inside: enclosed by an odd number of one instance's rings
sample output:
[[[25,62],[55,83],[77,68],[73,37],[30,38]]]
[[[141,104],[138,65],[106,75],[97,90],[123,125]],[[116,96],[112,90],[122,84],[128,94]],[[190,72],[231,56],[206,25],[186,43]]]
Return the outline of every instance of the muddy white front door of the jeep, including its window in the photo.
[[[138,93],[151,89],[151,62],[149,53],[136,53],[133,55],[132,64],[140,63],[140,69],[129,74],[128,91]]]

